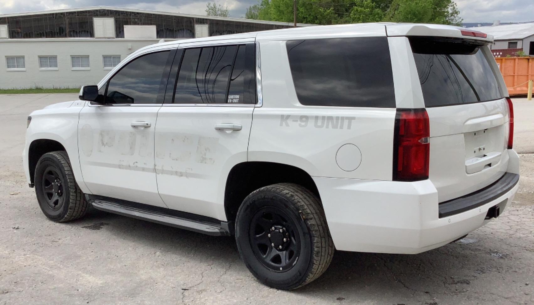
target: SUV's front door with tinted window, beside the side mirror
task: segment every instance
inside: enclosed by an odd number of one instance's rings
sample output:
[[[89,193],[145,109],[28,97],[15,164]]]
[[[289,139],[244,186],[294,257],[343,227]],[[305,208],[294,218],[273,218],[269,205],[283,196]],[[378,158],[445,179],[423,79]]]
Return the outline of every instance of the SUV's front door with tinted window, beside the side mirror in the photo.
[[[154,129],[170,53],[130,61],[101,88],[104,105],[81,111],[80,166],[92,194],[166,207],[156,185]]]

